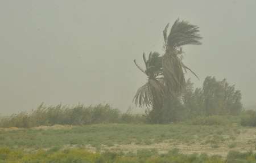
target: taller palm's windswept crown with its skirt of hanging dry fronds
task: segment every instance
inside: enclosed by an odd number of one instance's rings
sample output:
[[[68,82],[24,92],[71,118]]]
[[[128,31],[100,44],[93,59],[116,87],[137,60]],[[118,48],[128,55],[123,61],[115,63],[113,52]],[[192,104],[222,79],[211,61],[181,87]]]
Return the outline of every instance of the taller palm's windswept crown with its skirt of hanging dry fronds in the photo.
[[[202,37],[198,34],[199,27],[177,19],[172,25],[171,31],[167,37],[169,24],[164,28],[163,36],[166,46],[166,53],[163,55],[162,66],[163,76],[168,92],[179,93],[185,87],[184,72],[189,70],[195,75],[189,67],[185,66],[181,58],[177,55],[182,54],[181,46],[183,45],[201,45],[199,41]],[[177,50],[180,48],[180,50]]]

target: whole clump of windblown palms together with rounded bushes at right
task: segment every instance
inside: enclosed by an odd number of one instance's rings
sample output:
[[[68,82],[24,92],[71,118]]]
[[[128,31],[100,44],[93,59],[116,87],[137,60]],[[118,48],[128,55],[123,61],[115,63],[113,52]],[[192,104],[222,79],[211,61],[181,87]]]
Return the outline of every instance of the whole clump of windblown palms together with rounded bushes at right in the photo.
[[[185,66],[182,46],[201,45],[199,27],[177,19],[167,33],[164,28],[164,54],[143,53],[145,70],[134,60],[135,65],[147,76],[147,83],[134,96],[135,104],[146,106],[147,121],[170,123],[198,116],[238,115],[242,111],[241,92],[226,79],[217,81],[212,76],[204,80],[203,88],[193,89],[191,80],[185,81]]]

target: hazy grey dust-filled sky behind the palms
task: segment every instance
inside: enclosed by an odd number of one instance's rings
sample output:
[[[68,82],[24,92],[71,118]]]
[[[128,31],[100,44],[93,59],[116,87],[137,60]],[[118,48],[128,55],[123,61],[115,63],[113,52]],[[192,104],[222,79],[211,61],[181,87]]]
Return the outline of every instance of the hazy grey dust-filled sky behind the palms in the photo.
[[[146,76],[142,53],[163,53],[164,26],[199,25],[184,62],[228,79],[255,104],[256,1],[0,1],[0,115],[47,105],[110,103],[126,110]],[[143,65],[142,65],[143,66]],[[187,75],[192,76],[192,75]],[[139,108],[138,108],[139,109]]]

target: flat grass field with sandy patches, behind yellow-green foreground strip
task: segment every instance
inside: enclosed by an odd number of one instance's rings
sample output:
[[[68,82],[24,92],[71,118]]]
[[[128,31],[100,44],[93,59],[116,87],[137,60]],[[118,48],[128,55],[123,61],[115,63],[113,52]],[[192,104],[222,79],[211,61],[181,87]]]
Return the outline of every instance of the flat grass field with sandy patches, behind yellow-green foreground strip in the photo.
[[[226,157],[230,150],[256,152],[256,128],[241,126],[132,125],[42,126],[2,128],[0,147],[39,149],[84,148],[90,152],[136,153],[154,149],[168,153],[207,153]]]

